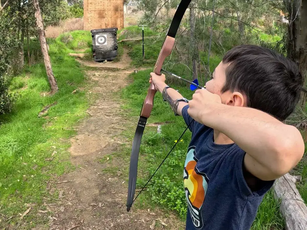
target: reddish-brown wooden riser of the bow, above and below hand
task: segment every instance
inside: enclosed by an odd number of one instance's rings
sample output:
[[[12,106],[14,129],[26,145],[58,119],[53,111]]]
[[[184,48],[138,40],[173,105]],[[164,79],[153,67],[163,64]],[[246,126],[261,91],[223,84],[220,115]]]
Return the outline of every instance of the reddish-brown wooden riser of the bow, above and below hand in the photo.
[[[162,68],[163,62],[165,58],[172,53],[174,44],[175,44],[175,38],[171,36],[166,36],[161,52],[159,54],[159,57],[153,69],[153,72],[155,74],[161,75],[161,68]],[[151,83],[147,91],[147,96],[143,103],[143,107],[142,107],[140,116],[147,117],[147,118],[150,117],[151,110],[153,109],[153,98],[156,92],[157,90],[155,89],[153,83]]]

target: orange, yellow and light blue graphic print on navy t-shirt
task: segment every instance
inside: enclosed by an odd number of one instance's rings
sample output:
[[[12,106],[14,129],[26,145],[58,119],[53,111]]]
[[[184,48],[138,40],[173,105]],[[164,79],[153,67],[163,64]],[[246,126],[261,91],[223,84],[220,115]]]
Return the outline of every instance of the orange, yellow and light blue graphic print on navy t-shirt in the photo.
[[[195,155],[195,146],[189,147],[185,159],[183,182],[192,222],[196,229],[201,229],[204,226],[201,209],[204,205],[209,179],[205,173],[198,171],[196,167],[198,159]]]

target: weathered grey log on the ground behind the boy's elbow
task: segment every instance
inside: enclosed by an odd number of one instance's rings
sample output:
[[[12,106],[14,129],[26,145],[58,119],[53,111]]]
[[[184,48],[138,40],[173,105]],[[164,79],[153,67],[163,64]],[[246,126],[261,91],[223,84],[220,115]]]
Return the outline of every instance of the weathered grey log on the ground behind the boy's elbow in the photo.
[[[295,185],[300,180],[301,176],[287,173],[273,185],[274,198],[281,199],[280,211],[286,230],[307,230],[307,206]]]

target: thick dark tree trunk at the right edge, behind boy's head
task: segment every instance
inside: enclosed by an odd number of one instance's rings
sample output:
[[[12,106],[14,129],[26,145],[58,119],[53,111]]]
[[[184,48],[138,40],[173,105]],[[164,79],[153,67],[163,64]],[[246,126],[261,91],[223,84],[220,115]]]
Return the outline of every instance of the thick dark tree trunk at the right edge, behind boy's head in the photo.
[[[301,2],[301,6],[300,6]],[[289,3],[291,4],[291,3]],[[300,68],[304,77],[304,85],[307,84],[307,0],[293,1],[289,6],[289,41],[288,57],[292,59]],[[306,106],[307,94],[302,93],[299,105],[303,108]],[[305,111],[305,110],[304,110]]]

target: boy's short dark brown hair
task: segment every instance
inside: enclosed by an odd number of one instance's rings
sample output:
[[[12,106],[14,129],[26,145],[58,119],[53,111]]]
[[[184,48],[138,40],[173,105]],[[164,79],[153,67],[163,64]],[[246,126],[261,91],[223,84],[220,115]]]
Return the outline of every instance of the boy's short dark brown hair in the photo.
[[[222,93],[230,90],[247,96],[247,106],[284,121],[300,99],[304,79],[286,57],[256,45],[241,45],[223,58],[229,63]],[[305,91],[305,90],[304,90]]]

